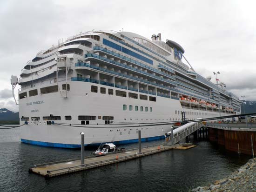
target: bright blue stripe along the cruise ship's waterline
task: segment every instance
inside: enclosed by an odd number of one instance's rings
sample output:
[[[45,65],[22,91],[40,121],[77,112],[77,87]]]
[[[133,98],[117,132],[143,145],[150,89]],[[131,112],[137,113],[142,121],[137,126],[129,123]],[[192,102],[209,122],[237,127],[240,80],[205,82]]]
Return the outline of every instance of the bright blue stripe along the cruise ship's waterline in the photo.
[[[155,136],[155,137],[148,137],[148,138],[141,138],[141,142],[147,142],[147,141],[153,141],[158,139],[164,139],[164,135],[162,136]],[[30,145],[35,146],[47,146],[47,147],[58,147],[58,148],[80,148],[81,145],[76,144],[63,144],[63,143],[49,143],[49,142],[42,142],[42,141],[33,141],[33,140],[27,140],[27,139],[20,139],[22,143],[27,143]],[[123,140],[123,141],[115,141],[113,142],[115,145],[123,145],[128,143],[137,143],[138,139],[129,139],[129,140]],[[94,144],[85,144],[85,146],[99,146],[100,143],[94,143]]]

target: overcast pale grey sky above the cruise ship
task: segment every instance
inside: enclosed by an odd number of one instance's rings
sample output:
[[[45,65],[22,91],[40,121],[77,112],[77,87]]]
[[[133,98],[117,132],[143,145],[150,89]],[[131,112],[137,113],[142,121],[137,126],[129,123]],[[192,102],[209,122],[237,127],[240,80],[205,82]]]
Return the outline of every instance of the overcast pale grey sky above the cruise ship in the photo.
[[[197,73],[215,81],[219,71],[229,91],[256,101],[255,8],[255,0],[0,0],[0,108],[18,111],[10,78],[28,60],[93,29],[161,33]]]

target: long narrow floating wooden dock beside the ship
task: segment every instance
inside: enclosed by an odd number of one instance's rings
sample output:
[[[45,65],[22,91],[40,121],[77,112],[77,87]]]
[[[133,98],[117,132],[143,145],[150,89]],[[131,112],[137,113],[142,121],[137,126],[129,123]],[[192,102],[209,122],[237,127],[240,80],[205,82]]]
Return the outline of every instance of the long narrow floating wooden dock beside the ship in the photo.
[[[191,148],[191,146],[189,147]],[[47,179],[72,172],[79,172],[87,169],[92,169],[95,167],[107,166],[110,164],[115,164],[130,159],[141,158],[147,155],[168,151],[174,148],[187,149],[189,147],[182,147],[182,144],[177,144],[173,146],[148,146],[142,148],[141,153],[139,153],[138,149],[131,149],[125,152],[112,153],[105,156],[90,156],[85,158],[85,164],[83,165],[81,165],[81,159],[41,164],[30,168],[29,172],[39,174]]]

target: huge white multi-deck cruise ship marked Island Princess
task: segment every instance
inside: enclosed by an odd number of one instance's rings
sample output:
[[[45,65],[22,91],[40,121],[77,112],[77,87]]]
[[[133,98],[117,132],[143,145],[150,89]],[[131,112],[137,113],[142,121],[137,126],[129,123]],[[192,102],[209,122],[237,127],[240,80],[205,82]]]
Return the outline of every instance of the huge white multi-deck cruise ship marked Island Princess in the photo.
[[[240,114],[224,83],[196,73],[173,40],[111,30],[80,33],[27,61],[19,84],[21,142],[81,147],[164,138],[166,122]]]

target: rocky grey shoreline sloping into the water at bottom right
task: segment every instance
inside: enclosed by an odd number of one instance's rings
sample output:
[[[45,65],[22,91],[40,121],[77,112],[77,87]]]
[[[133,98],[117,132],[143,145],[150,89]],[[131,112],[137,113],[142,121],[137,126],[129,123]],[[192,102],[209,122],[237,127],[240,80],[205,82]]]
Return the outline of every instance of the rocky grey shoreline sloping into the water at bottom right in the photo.
[[[256,192],[256,158],[214,184],[198,186],[189,192]]]

